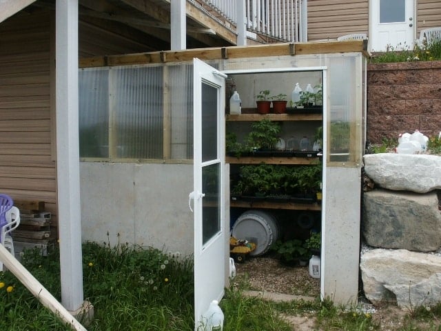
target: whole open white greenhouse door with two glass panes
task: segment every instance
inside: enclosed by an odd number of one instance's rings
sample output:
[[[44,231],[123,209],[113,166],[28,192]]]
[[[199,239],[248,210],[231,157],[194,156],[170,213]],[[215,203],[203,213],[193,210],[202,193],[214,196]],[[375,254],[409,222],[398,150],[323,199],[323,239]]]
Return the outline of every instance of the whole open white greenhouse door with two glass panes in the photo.
[[[195,330],[225,288],[225,75],[194,59],[194,316]]]

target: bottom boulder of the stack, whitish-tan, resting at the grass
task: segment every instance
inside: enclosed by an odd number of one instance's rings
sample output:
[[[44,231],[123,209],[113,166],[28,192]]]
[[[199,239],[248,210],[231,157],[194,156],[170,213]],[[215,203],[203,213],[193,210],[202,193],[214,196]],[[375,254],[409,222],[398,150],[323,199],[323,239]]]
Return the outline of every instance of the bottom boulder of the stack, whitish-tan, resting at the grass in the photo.
[[[373,304],[396,300],[400,307],[429,306],[441,301],[441,257],[408,250],[362,252],[361,277]]]

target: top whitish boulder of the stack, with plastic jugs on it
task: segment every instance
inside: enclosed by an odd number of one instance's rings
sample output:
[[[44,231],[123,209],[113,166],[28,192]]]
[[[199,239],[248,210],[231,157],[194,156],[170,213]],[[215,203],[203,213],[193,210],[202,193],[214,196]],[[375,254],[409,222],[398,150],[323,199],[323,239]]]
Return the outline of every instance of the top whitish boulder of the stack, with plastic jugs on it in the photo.
[[[426,193],[441,189],[441,157],[426,154],[366,154],[365,173],[388,190]]]

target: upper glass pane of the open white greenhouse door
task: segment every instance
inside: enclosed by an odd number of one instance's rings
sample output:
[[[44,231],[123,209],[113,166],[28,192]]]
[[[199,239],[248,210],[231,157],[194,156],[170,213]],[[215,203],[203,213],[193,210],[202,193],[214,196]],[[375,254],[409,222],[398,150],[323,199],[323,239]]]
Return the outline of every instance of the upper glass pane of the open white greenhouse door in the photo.
[[[202,83],[202,161],[218,158],[218,89]]]

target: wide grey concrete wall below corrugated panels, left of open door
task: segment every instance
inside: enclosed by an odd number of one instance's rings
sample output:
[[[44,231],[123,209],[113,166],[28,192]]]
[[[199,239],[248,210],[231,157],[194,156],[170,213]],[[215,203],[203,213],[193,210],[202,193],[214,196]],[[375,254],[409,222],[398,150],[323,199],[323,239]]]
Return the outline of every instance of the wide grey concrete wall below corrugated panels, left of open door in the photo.
[[[80,177],[83,241],[193,253],[193,165],[81,162]]]

